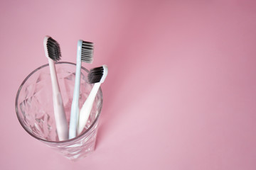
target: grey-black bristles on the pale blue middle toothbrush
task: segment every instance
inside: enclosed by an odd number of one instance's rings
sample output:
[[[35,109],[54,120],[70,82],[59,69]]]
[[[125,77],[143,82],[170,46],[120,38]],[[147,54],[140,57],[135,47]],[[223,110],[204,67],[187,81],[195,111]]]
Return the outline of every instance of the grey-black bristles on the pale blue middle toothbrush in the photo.
[[[93,43],[82,41],[81,60],[82,62],[92,63]]]

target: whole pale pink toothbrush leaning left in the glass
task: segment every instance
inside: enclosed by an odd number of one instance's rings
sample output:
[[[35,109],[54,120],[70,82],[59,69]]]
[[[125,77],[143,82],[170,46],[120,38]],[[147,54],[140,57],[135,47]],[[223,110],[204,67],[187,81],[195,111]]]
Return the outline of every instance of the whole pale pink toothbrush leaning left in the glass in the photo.
[[[43,40],[43,46],[50,67],[50,79],[53,87],[53,109],[58,138],[59,140],[68,140],[68,123],[65,117],[63,100],[60,94],[60,87],[55,69],[55,62],[60,60],[61,56],[60,45],[57,41],[53,40],[53,38],[46,36]]]

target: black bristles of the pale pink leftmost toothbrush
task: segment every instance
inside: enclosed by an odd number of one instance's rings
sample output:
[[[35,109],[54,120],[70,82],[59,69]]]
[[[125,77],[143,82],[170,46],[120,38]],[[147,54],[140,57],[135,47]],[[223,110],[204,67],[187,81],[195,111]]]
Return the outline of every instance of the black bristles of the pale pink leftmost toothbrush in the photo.
[[[61,53],[60,53],[60,45],[57,41],[53,40],[53,38],[48,38],[47,40],[47,50],[48,56],[51,60],[57,62],[60,60]]]

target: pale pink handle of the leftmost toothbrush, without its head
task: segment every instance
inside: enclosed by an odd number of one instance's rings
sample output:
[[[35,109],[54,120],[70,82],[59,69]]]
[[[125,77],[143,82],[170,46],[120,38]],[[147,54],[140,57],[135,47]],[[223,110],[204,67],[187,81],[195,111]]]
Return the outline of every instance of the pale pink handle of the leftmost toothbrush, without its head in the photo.
[[[50,67],[50,79],[53,86],[53,109],[55,116],[55,123],[58,132],[59,140],[68,140],[68,123],[65,117],[65,110],[63,100],[60,94],[60,87],[56,75],[55,64],[53,60],[48,60]]]

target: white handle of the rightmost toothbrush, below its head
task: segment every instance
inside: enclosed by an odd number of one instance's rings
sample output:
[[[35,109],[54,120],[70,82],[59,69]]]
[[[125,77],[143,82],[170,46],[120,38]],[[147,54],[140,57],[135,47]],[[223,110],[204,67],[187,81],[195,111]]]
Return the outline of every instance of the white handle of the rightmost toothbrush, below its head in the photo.
[[[82,105],[79,115],[79,123],[78,123],[78,135],[82,132],[85,128],[87,120],[89,118],[90,112],[92,111],[93,102],[97,95],[97,91],[100,89],[100,82],[96,83],[92,87],[92,91],[90,91],[89,96],[87,97],[85,103]]]

